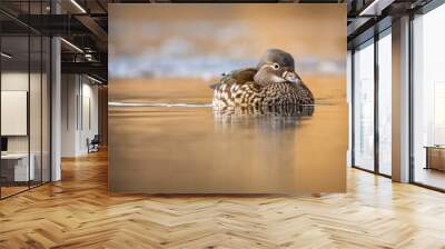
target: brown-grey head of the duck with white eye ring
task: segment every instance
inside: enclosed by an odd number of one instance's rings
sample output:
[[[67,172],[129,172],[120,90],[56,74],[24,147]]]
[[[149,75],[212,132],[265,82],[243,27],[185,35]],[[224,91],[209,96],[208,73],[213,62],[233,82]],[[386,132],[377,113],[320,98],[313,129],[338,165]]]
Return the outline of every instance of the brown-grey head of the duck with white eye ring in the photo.
[[[259,84],[299,81],[293,56],[279,49],[268,49],[259,60],[257,70],[254,79]]]

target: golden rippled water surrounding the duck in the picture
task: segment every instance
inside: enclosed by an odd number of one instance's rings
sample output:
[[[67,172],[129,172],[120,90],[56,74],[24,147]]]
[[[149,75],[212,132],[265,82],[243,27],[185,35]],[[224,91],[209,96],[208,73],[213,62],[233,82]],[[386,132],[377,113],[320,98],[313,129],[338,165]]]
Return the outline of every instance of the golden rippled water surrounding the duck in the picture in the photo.
[[[305,77],[317,104],[216,112],[211,81],[115,80],[109,187],[147,193],[336,192],[346,187],[344,77]]]

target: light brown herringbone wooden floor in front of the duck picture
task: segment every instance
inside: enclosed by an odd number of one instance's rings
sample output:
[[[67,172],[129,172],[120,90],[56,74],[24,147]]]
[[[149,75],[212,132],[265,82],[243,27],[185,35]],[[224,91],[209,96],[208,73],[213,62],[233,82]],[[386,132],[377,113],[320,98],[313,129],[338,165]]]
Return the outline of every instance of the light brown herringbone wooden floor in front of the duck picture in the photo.
[[[109,195],[105,152],[62,172],[0,201],[0,248],[445,248],[445,195],[354,169],[320,198]]]

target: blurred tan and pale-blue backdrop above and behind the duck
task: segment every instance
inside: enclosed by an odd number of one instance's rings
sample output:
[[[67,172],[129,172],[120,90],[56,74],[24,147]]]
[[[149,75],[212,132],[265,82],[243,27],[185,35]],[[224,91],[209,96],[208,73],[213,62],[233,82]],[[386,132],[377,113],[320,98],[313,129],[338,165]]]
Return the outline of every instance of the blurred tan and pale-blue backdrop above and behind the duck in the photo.
[[[196,7],[109,7],[109,77],[116,83],[113,89],[119,90],[111,89],[111,99],[140,100],[142,96],[137,94],[156,87],[159,79],[162,86],[169,81],[177,83],[179,79],[207,86],[222,72],[255,67],[269,48],[291,53],[301,77],[345,76],[346,8],[343,4]],[[137,80],[130,82],[130,79]],[[149,82],[154,84],[140,86]],[[130,91],[136,86],[138,89]],[[156,89],[169,91],[168,87]],[[128,93],[127,98],[122,92]],[[156,100],[152,97],[150,100]]]

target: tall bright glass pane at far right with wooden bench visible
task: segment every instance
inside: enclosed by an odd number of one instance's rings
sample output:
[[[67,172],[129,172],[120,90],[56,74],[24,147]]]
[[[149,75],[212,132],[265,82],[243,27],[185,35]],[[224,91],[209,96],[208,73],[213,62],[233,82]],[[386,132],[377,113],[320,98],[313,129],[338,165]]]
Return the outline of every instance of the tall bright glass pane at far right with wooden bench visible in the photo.
[[[445,4],[413,21],[413,180],[445,189]]]

